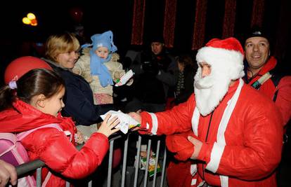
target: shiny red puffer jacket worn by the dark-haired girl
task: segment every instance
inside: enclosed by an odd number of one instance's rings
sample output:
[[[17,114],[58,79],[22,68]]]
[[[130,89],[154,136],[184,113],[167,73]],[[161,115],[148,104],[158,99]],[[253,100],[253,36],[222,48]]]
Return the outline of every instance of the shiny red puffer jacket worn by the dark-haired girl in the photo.
[[[13,107],[14,109],[1,111],[0,132],[24,132],[51,123],[60,125],[64,131],[70,131],[71,134],[76,132],[71,118],[61,116],[56,118],[20,100],[14,102]],[[82,179],[94,172],[101,165],[109,147],[108,137],[95,132],[78,151],[74,138],[70,142],[64,132],[53,127],[35,130],[22,139],[21,143],[27,150],[30,160],[40,159],[53,171],[70,179]],[[42,176],[46,177],[48,171],[43,172]],[[46,183],[45,186],[65,186],[65,180],[60,176],[51,173],[49,175],[51,176],[46,180],[42,179]]]

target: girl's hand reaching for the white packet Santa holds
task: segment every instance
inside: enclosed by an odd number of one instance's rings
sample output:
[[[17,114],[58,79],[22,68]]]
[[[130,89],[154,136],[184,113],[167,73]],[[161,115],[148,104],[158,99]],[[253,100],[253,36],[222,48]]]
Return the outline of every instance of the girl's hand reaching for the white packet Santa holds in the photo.
[[[98,131],[99,133],[104,134],[106,137],[109,137],[111,134],[119,131],[119,128],[114,128],[116,125],[120,123],[117,116],[109,120],[111,114],[108,114],[105,119],[103,120],[103,123],[99,127]]]

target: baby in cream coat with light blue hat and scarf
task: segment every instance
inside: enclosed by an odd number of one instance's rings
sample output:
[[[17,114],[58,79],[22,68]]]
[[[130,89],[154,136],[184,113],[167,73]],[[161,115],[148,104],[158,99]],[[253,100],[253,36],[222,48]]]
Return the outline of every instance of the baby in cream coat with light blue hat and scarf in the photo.
[[[92,48],[84,48],[72,71],[86,79],[93,91],[95,104],[113,104],[112,85],[125,74],[111,31],[91,36]],[[133,79],[131,79],[133,81]],[[127,85],[131,85],[129,81]]]

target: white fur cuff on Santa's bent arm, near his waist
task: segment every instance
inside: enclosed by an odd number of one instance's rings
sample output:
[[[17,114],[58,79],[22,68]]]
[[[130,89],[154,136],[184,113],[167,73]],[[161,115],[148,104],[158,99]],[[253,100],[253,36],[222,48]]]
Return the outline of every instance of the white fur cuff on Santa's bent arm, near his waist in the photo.
[[[216,173],[219,167],[219,162],[221,160],[222,153],[224,153],[224,146],[221,146],[214,142],[210,155],[210,162],[207,164],[205,169],[208,169],[210,172]]]

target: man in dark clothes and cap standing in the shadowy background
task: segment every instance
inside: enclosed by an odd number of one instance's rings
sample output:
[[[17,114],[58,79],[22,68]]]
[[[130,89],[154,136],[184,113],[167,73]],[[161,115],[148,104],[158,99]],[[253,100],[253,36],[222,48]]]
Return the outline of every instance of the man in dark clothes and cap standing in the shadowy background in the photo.
[[[135,92],[124,110],[164,111],[169,88],[176,85],[179,69],[174,57],[167,52],[163,37],[153,36],[150,50],[139,53],[130,69],[134,71]]]

